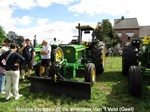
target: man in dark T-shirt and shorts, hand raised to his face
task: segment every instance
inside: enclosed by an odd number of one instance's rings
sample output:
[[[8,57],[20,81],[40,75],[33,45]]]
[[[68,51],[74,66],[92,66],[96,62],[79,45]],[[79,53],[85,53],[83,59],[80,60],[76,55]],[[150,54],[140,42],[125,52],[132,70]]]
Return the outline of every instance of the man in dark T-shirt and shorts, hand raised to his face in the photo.
[[[28,77],[29,77],[32,71],[32,64],[35,58],[35,49],[31,45],[30,39],[25,40],[25,43],[21,46],[19,52],[21,52],[23,57],[25,58],[24,63],[21,65],[22,80],[24,80],[26,66],[28,65]]]

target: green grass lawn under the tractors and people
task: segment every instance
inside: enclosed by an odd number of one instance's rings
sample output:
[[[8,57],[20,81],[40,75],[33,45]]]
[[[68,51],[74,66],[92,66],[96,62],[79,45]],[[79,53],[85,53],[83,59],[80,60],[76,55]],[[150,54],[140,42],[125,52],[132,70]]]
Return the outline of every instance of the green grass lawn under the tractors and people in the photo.
[[[32,93],[30,82],[20,82],[19,100],[12,97],[5,100],[0,95],[0,112],[15,111],[103,111],[103,112],[149,112],[150,111],[150,76],[143,76],[142,96],[132,97],[127,89],[127,77],[121,74],[121,57],[107,57],[105,72],[97,76],[97,82],[92,87],[91,100],[71,99],[65,95],[55,96],[49,93]]]

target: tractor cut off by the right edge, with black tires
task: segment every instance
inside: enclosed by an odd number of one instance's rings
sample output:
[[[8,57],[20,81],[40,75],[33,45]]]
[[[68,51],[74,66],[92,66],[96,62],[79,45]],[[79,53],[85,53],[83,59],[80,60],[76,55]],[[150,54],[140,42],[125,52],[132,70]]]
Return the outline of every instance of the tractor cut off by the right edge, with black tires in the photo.
[[[133,39],[125,44],[122,54],[122,74],[128,76],[128,90],[132,96],[140,97],[142,75],[150,73],[150,35]]]

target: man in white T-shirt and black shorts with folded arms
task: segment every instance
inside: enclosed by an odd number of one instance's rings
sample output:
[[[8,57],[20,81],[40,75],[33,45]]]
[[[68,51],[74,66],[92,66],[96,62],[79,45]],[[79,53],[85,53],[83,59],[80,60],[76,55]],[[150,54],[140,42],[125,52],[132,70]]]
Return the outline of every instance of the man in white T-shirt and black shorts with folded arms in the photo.
[[[48,44],[48,41],[43,40],[42,42],[42,50],[41,53],[41,66],[40,66],[40,73],[39,76],[42,76],[42,71],[44,67],[47,67],[47,70],[50,68],[50,58],[51,58],[51,46]]]

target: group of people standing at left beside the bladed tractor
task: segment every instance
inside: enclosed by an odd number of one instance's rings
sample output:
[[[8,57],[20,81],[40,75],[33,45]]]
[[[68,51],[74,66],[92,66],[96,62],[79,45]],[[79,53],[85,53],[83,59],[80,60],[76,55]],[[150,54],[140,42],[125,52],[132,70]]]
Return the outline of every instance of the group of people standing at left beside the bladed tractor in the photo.
[[[17,51],[17,52],[16,52]],[[42,76],[42,69],[46,65],[50,68],[51,46],[47,40],[43,40],[41,54],[41,66],[39,76]],[[35,49],[31,45],[30,39],[26,39],[21,47],[17,49],[16,44],[11,43],[9,49],[5,46],[1,48],[0,55],[0,94],[6,94],[6,100],[14,96],[18,100],[22,94],[19,94],[19,79],[21,69],[21,80],[25,80],[25,69],[28,67],[28,77],[33,68],[35,59]],[[6,84],[5,84],[6,81]],[[13,93],[11,92],[13,88]]]

